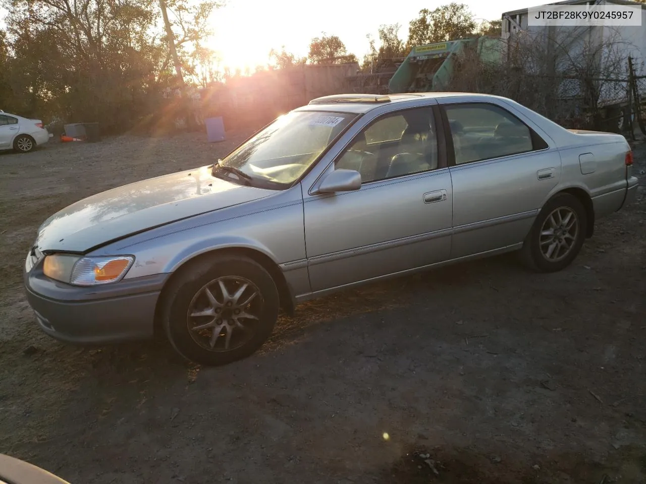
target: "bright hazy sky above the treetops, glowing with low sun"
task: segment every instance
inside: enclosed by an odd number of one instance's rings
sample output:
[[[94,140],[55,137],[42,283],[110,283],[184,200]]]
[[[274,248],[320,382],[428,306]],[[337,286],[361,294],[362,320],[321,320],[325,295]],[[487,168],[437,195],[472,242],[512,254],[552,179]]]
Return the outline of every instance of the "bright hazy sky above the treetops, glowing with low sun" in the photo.
[[[309,42],[325,32],[338,35],[349,54],[362,59],[368,54],[368,39],[378,39],[382,24],[399,23],[399,37],[408,37],[408,23],[422,8],[433,10],[451,0],[395,0],[391,3],[368,3],[366,0],[227,0],[227,5],[213,13],[214,35],[207,43],[219,52],[222,68],[232,70],[269,62],[269,51],[307,55]],[[478,19],[500,19],[503,12],[526,8],[541,1],[523,0],[457,0],[466,3]],[[317,6],[320,5],[320,8]]]

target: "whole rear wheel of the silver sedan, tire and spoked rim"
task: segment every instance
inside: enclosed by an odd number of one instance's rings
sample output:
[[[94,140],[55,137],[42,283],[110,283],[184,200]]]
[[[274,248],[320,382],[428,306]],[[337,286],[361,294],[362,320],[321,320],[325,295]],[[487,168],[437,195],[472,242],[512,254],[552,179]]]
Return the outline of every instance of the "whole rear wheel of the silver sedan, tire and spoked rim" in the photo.
[[[536,217],[523,244],[521,260],[540,272],[562,270],[579,254],[586,232],[583,204],[574,195],[559,194]]]

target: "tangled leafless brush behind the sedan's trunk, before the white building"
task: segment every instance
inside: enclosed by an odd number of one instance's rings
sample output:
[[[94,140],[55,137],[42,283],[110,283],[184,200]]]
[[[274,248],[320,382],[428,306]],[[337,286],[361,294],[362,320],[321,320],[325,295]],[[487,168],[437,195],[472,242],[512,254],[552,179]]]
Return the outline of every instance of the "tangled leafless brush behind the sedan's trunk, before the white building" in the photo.
[[[548,28],[492,41],[498,62],[466,49],[450,89],[510,97],[566,125],[619,119],[628,90],[625,43],[619,31],[595,29]]]

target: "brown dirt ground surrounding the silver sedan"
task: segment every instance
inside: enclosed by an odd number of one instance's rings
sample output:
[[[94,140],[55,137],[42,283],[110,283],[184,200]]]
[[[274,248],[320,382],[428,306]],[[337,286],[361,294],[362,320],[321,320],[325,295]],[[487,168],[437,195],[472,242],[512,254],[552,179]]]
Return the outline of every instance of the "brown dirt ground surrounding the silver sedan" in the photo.
[[[0,154],[1,453],[72,484],[646,482],[643,191],[563,272],[503,256],[337,294],[226,367],[41,334],[21,268],[45,218],[244,137]]]

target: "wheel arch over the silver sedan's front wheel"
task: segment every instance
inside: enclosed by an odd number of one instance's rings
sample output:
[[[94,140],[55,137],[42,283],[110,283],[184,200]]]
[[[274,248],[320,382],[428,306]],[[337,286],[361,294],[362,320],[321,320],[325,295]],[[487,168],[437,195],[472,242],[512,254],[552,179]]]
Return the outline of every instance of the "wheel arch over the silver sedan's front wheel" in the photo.
[[[267,272],[269,272],[269,276],[271,276],[274,283],[276,284],[276,288],[278,289],[280,307],[282,308],[282,310],[287,312],[287,314],[293,314],[296,307],[296,300],[293,296],[293,292],[290,290],[289,284],[287,283],[287,279],[285,278],[282,270],[280,270],[280,267],[278,267],[276,262],[273,261],[271,257],[267,256],[267,254],[264,254],[260,250],[249,247],[214,248],[213,250],[200,252],[199,254],[195,254],[193,257],[185,259],[184,261],[182,261],[182,263],[180,263],[180,265],[178,265],[178,267],[176,267],[172,271],[171,276],[166,279],[163,288],[161,288],[160,297],[158,297],[157,305],[155,308],[154,325],[156,332],[161,329],[161,309],[163,308],[163,303],[165,302],[165,292],[167,288],[171,286],[172,281],[174,281],[174,279],[185,270],[191,270],[191,267],[199,264],[200,261],[221,254],[248,257],[249,259],[260,264]]]

